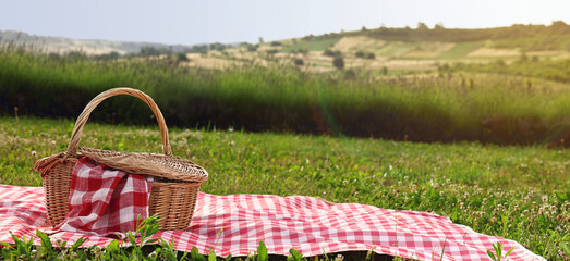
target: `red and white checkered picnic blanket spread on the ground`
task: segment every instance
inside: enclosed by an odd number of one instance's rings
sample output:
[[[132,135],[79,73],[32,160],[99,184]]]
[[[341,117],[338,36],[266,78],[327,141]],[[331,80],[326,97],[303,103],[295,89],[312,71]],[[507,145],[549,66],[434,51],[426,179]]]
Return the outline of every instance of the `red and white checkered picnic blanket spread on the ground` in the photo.
[[[44,189],[0,185],[0,240],[12,241],[8,231],[33,237],[36,229],[51,229],[47,227]],[[71,232],[50,235],[52,240],[80,237],[89,237],[85,247],[113,240]],[[335,204],[304,196],[201,192],[187,231],[159,232],[154,237],[174,238],[178,250],[190,251],[195,246],[202,253],[214,249],[221,257],[253,253],[263,240],[275,254],[289,256],[291,248],[305,257],[373,249],[417,260],[490,260],[486,250],[500,241],[505,249],[514,248],[509,260],[545,260],[517,241],[475,233],[436,214]]]

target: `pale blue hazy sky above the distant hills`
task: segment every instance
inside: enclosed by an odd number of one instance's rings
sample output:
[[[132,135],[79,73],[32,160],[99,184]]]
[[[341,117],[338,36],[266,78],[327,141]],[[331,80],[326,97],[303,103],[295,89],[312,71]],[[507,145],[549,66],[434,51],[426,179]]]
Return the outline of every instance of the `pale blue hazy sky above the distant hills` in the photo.
[[[570,23],[570,0],[14,0],[0,5],[0,30],[76,39],[257,42],[376,28],[483,28]]]

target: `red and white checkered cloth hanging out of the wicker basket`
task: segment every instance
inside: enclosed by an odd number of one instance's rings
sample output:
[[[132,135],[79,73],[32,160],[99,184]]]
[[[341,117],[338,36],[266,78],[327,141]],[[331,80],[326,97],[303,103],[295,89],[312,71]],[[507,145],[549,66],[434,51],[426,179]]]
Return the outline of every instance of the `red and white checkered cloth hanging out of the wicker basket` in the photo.
[[[153,176],[128,174],[83,157],[73,167],[70,212],[60,231],[95,236],[135,231],[148,217]]]

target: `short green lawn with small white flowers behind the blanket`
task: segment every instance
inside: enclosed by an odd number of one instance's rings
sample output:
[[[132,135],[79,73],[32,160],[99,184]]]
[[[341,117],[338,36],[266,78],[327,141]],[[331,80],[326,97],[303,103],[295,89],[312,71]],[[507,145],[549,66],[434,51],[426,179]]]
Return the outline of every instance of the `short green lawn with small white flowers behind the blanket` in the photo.
[[[72,127],[71,121],[0,119],[0,183],[39,186],[33,163],[65,150]],[[210,174],[205,192],[306,195],[433,211],[478,233],[517,240],[548,260],[563,259],[561,243],[570,240],[568,150],[185,128],[170,133],[174,154]],[[160,136],[157,126],[92,123],[81,146],[160,152]]]

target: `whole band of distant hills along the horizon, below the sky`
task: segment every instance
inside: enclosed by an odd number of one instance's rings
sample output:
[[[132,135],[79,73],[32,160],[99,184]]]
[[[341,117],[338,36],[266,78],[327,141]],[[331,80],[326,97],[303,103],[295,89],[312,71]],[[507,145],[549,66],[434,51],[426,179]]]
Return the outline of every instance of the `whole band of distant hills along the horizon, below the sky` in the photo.
[[[178,53],[180,65],[226,69],[244,64],[295,64],[303,71],[335,72],[333,60],[342,58],[343,69],[368,71],[374,75],[434,72],[445,63],[507,64],[529,57],[534,60],[570,58],[570,25],[512,25],[510,27],[461,29],[436,25],[428,28],[365,28],[355,32],[308,35],[279,41],[196,46],[167,46],[151,42],[75,40],[1,32],[0,42],[34,46],[45,52],[82,51],[101,55],[161,55]],[[185,53],[185,54],[183,54]],[[338,60],[338,59],[337,59]]]

